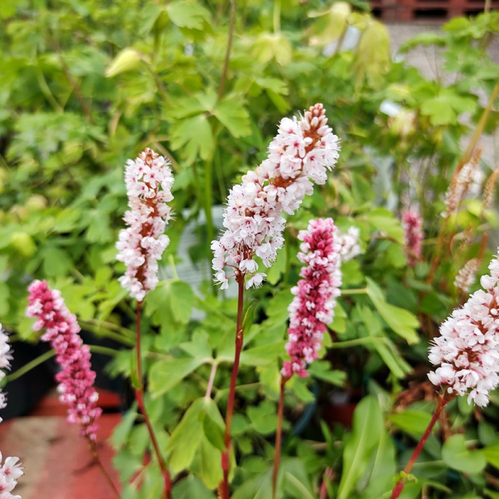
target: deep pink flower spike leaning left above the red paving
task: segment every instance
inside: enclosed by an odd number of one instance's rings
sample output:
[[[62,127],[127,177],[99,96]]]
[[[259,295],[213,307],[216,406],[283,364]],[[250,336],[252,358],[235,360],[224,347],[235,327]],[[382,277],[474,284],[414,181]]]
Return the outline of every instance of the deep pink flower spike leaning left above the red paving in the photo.
[[[68,406],[67,421],[81,425],[81,434],[94,441],[102,409],[97,405],[90,348],[83,344],[76,316],[67,309],[61,292],[50,289],[45,281],[33,281],[28,291],[26,315],[38,319],[34,331],[46,329],[41,339],[50,342],[61,367],[55,379],[59,400]]]

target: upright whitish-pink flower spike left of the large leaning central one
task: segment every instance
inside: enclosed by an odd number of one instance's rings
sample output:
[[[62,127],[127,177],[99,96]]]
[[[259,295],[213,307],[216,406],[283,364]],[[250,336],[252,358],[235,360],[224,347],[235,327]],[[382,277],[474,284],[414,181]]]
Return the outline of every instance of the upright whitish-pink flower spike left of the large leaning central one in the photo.
[[[170,244],[164,234],[171,219],[167,203],[173,200],[169,164],[149,148],[135,161],[127,162],[125,181],[130,210],[123,220],[128,228],[119,234],[116,258],[127,266],[119,281],[137,301],[158,284],[158,260]]]

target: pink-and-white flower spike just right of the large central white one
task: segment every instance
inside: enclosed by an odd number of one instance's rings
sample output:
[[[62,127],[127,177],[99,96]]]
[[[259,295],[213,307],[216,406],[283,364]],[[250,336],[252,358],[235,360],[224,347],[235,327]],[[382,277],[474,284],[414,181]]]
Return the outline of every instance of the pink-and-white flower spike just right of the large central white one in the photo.
[[[281,374],[307,376],[306,366],[317,358],[326,324],[333,320],[336,298],[341,286],[340,250],[337,228],[332,219],[312,220],[306,231],[300,231],[303,241],[298,259],[301,268],[298,285],[291,289],[293,301],[288,307],[289,328],[286,352],[291,360],[284,362]]]

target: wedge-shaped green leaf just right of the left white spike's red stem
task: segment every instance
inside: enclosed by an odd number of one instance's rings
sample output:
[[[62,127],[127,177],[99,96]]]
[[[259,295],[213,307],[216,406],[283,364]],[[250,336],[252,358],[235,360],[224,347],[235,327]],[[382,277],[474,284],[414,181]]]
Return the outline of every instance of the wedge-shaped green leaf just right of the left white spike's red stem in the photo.
[[[149,389],[153,397],[159,397],[173,388],[179,381],[192,373],[201,364],[208,362],[206,358],[172,358],[159,360],[149,371]]]

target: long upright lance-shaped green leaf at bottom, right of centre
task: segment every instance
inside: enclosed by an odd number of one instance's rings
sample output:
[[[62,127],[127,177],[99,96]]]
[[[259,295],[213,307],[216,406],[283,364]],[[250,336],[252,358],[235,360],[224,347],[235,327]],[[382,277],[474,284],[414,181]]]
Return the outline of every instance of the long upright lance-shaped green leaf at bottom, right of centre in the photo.
[[[343,451],[343,473],[338,499],[346,499],[364,471],[383,432],[383,415],[376,397],[364,397],[353,415],[352,434]]]

